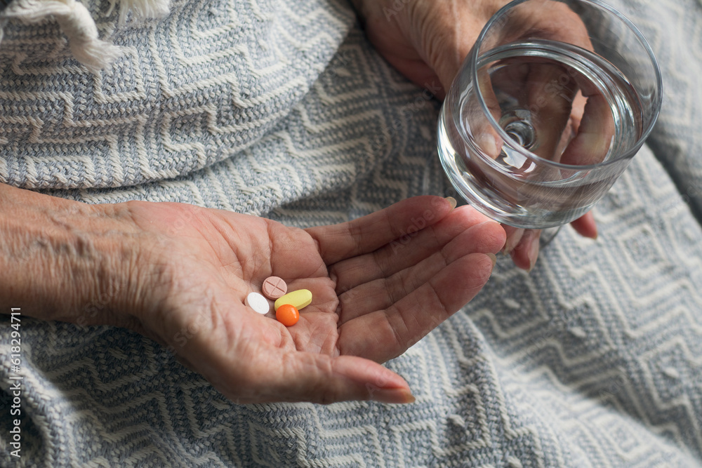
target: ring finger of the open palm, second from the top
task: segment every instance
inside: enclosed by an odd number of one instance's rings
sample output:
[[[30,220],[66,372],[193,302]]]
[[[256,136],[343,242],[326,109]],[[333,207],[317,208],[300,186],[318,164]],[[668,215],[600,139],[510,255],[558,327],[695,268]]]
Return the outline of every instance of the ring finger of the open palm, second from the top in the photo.
[[[337,293],[343,293],[416,265],[465,229],[486,221],[490,219],[470,206],[456,208],[434,225],[427,226],[423,218],[418,218],[415,225],[422,228],[420,231],[406,234],[371,253],[337,262],[329,268],[329,274],[336,278]]]

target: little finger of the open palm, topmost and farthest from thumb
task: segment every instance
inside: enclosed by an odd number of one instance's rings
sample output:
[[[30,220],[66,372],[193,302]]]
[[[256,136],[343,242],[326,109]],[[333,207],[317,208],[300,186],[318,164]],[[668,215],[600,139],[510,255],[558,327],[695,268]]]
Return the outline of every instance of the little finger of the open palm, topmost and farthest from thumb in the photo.
[[[331,265],[414,234],[420,230],[420,220],[425,226],[433,225],[452,209],[449,201],[439,196],[416,196],[357,220],[305,230],[317,241],[324,262]]]

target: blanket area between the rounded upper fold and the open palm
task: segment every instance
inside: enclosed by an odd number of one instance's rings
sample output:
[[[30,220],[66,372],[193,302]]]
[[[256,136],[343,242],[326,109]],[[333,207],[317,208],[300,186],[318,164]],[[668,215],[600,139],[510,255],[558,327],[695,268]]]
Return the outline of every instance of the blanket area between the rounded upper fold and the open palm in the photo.
[[[236,156],[172,180],[48,192],[88,203],[184,201],[261,215],[283,203],[354,187],[366,192],[364,209],[378,209],[410,193],[437,192],[431,188],[442,173],[438,161],[425,171],[426,155],[435,151],[435,109],[435,101],[389,69],[355,30],[305,98]],[[383,184],[359,182],[398,151],[403,165],[383,174]],[[322,213],[320,205],[300,213],[300,220],[321,220]]]

